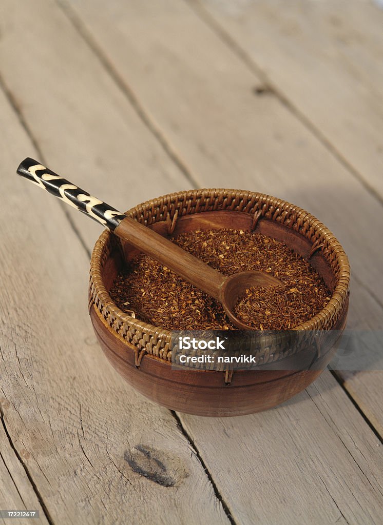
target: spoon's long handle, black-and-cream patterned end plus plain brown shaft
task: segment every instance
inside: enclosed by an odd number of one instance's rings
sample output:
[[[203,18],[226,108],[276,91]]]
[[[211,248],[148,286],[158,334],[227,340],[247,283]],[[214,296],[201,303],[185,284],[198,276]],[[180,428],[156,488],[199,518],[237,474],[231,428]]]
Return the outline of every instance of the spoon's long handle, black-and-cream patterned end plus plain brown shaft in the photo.
[[[162,235],[127,217],[100,199],[92,197],[33,159],[27,158],[20,163],[17,173],[80,212],[89,215],[103,226],[107,226],[121,239],[127,240],[128,243],[172,269],[177,275],[210,296],[221,300],[221,287],[226,276]]]

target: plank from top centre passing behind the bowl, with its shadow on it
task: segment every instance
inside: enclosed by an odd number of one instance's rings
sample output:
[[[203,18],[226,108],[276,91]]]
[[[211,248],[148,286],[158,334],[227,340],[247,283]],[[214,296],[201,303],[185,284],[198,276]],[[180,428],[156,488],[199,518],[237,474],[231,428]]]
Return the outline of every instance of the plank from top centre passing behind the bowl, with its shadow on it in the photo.
[[[123,5],[60,0],[60,4],[117,81],[136,93],[153,125],[160,126],[177,148],[192,180],[200,186],[234,185],[283,197],[308,209],[334,231],[353,272],[348,328],[381,328],[383,246],[377,239],[383,206],[333,148],[318,140],[280,98],[270,92],[255,94],[254,88],[264,86],[263,76],[201,21],[199,10],[169,0]],[[371,24],[375,27],[375,22]],[[359,54],[356,60],[363,61]],[[316,71],[302,67],[299,78],[317,89],[312,70]],[[337,92],[343,89],[348,90],[348,84],[343,88],[340,82]],[[372,95],[369,101],[371,111],[378,114],[381,108],[376,108]],[[370,112],[358,112],[357,119],[361,126],[375,122]],[[379,140],[376,132],[375,141]],[[374,177],[365,176],[376,185]],[[342,376],[346,379],[349,374]],[[383,426],[381,377],[381,372],[363,373],[358,381],[346,382],[356,402],[368,404],[379,428]]]

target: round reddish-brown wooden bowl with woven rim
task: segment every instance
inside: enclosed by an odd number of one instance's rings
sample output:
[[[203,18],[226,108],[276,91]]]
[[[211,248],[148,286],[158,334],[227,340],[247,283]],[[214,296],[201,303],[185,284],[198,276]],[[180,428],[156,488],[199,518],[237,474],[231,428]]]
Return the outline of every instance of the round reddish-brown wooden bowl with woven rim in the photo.
[[[164,236],[223,227],[255,230],[309,258],[332,292],[323,310],[295,328],[299,332],[298,346],[293,348],[283,332],[267,339],[263,344],[264,365],[257,370],[174,370],[171,332],[130,317],[110,298],[113,280],[138,250],[106,230],[91,257],[89,313],[108,360],[141,394],[190,414],[250,414],[280,404],[303,390],[332,359],[336,338],[321,346],[316,344],[315,336],[341,334],[344,330],[350,268],[343,248],[318,219],[275,197],[222,189],[165,195],[139,204],[127,215]],[[297,359],[300,365],[289,369],[289,363]]]

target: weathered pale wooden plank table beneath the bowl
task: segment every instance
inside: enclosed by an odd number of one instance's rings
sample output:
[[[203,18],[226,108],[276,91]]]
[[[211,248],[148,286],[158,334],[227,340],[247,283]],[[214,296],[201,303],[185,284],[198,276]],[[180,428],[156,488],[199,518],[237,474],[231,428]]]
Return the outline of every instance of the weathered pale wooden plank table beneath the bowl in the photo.
[[[383,10],[343,6],[3,0],[0,509],[55,525],[381,523],[382,372],[326,371],[238,418],[154,405],[92,332],[99,227],[15,175],[33,156],[123,209],[204,186],[285,198],[350,257],[348,327],[381,330]]]

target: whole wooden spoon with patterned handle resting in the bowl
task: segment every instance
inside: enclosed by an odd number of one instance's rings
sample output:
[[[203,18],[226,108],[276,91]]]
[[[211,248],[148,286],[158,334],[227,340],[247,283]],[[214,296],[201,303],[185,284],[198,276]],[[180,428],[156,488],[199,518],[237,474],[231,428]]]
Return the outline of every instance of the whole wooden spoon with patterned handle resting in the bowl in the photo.
[[[253,330],[237,319],[233,313],[237,300],[251,287],[284,286],[283,283],[262,271],[243,271],[229,277],[220,274],[179,246],[127,217],[78,186],[68,182],[33,159],[25,159],[17,168],[18,175],[27,178],[77,208],[111,232],[127,240],[134,247],[172,269],[183,279],[220,301],[230,321],[243,330]]]

